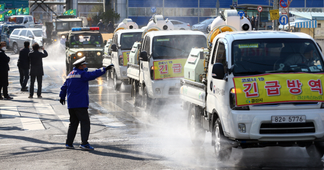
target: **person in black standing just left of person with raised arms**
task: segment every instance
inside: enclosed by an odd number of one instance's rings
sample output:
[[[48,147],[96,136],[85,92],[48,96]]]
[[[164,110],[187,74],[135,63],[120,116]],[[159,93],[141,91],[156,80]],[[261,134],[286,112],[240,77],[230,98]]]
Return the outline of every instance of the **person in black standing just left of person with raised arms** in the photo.
[[[20,91],[28,91],[27,90],[28,87],[26,87],[29,79],[29,69],[30,69],[30,61],[28,57],[30,50],[29,50],[28,41],[24,42],[24,47],[25,48],[21,48],[19,51],[19,58],[17,62],[19,75],[20,75],[20,86],[21,86]]]

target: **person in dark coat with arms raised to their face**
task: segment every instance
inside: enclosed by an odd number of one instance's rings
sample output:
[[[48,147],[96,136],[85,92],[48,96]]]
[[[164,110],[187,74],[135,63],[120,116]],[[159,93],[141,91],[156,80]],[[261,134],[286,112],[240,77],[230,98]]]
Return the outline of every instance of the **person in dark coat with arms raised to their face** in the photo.
[[[29,89],[29,97],[32,98],[34,95],[34,83],[35,79],[37,79],[37,98],[42,98],[42,81],[44,76],[43,70],[43,58],[47,57],[48,54],[43,47],[43,51],[39,52],[39,45],[37,43],[32,45],[32,51],[29,52],[29,59],[30,59],[30,89]]]

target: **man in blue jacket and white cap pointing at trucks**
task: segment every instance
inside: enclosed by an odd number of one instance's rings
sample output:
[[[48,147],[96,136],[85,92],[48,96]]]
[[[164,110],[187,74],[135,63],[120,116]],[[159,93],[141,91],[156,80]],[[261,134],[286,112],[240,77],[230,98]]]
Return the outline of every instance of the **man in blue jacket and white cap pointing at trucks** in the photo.
[[[67,139],[65,143],[66,149],[73,149],[73,141],[77,131],[77,126],[80,122],[81,127],[81,145],[82,149],[94,150],[88,143],[90,133],[90,119],[89,119],[89,81],[95,80],[102,76],[113,65],[87,72],[86,57],[76,60],[73,65],[73,71],[66,77],[66,81],[61,87],[60,103],[65,105],[65,96],[67,95],[67,109],[70,115],[70,124],[67,130]]]

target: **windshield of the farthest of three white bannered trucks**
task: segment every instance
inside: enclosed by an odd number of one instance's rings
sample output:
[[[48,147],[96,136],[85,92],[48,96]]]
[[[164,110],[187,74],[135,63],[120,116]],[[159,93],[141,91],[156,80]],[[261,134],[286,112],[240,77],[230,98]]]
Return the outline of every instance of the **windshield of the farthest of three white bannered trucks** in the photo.
[[[140,42],[143,32],[127,32],[120,35],[120,49],[131,50],[135,42]]]

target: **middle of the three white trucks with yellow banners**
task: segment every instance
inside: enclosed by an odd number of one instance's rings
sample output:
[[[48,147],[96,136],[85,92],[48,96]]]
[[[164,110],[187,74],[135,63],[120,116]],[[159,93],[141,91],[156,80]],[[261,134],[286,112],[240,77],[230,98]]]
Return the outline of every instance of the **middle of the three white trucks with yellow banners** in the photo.
[[[204,33],[191,30],[150,31],[145,34],[142,43],[135,43],[127,70],[134,104],[143,104],[148,111],[157,103],[163,105],[166,100],[178,97],[183,66],[194,47],[207,47]]]

